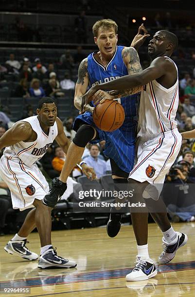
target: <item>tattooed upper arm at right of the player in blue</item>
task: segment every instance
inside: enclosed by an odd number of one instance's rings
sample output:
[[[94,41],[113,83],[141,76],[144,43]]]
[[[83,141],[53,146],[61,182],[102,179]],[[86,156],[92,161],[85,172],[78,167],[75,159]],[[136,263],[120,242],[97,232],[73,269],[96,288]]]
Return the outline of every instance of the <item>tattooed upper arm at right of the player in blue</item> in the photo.
[[[126,57],[129,58],[129,62],[127,66],[128,74],[133,75],[133,74],[141,73],[142,66],[140,64],[140,59],[137,51],[132,47],[124,49],[123,59]]]

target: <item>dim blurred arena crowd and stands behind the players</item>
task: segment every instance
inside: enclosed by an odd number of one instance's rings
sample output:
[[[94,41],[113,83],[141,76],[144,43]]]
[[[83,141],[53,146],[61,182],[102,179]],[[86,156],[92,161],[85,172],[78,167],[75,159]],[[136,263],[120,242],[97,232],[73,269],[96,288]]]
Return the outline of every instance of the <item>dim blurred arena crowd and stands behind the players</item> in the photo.
[[[73,105],[74,87],[80,62],[92,51],[92,25],[101,18],[112,18],[119,26],[118,44],[129,46],[138,27],[144,23],[151,36],[160,29],[177,34],[179,47],[172,59],[179,73],[179,106],[177,123],[180,132],[195,129],[195,7],[193,1],[163,0],[160,3],[136,1],[126,3],[101,0],[10,0],[0,1],[0,137],[13,123],[36,114],[39,98],[53,97],[57,102],[58,116],[63,121],[67,137],[72,140],[71,129],[78,111]],[[150,37],[149,37],[150,38]],[[148,38],[148,41],[149,41]],[[150,65],[147,56],[148,41],[139,49],[142,68]],[[104,141],[86,147],[83,158],[97,172],[97,183],[110,179],[110,163],[104,155]],[[2,155],[3,151],[0,151]],[[194,221],[193,192],[183,191],[186,184],[195,183],[195,139],[183,140],[177,162],[167,175],[166,183],[181,184],[175,204],[168,203],[170,218],[175,221]],[[47,180],[58,177],[66,156],[53,143],[38,162]],[[82,182],[82,172],[75,167],[71,181]],[[107,181],[108,182],[108,181]],[[110,180],[109,180],[110,182]],[[109,183],[108,182],[108,183]],[[94,187],[97,184],[94,184]],[[98,185],[99,186],[99,185]],[[174,186],[173,186],[174,188]],[[178,188],[178,187],[177,187]],[[175,192],[176,193],[176,192]],[[179,196],[182,193],[182,198]],[[71,228],[71,203],[76,200],[69,193],[61,208],[53,214],[53,224]],[[187,195],[187,196],[185,196]],[[68,196],[68,194],[67,194]],[[192,196],[185,204],[185,197]],[[191,199],[190,198],[190,199]],[[179,201],[179,202],[178,202]],[[192,206],[193,205],[193,206]],[[0,181],[0,234],[15,232],[26,213],[12,210],[7,185]],[[72,215],[72,217],[71,217]],[[79,215],[76,217],[78,219]],[[89,214],[81,215],[80,225],[95,226]],[[129,220],[129,216],[126,216]],[[81,223],[82,221],[82,223]],[[87,223],[83,223],[86,221]],[[59,228],[59,226],[58,226]]]

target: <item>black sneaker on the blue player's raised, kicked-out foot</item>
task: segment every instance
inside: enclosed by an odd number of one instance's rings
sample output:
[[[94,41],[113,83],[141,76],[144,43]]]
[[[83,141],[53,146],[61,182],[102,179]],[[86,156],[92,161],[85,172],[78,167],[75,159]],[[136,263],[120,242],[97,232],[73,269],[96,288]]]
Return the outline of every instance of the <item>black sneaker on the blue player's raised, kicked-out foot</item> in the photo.
[[[55,181],[53,181],[52,183],[52,188],[50,189],[49,193],[46,194],[43,198],[43,204],[53,208],[60,200],[66,189],[67,184],[60,181],[58,178],[55,178]]]

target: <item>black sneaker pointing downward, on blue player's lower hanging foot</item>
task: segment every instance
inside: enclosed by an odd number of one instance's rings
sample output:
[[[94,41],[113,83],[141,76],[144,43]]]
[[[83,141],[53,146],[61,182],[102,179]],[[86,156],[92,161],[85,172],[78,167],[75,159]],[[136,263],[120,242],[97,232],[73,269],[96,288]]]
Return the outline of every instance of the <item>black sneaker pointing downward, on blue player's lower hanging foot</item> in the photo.
[[[114,201],[115,202],[115,201]],[[115,211],[115,212],[114,212]],[[107,222],[106,231],[109,237],[115,237],[121,229],[122,214],[116,213],[116,208],[110,208],[110,218]]]

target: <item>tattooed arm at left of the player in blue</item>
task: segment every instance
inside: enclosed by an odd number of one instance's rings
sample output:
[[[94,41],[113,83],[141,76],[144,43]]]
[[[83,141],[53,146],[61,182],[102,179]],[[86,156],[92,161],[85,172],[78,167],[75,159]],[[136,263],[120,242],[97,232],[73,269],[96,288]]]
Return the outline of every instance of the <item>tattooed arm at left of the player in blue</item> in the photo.
[[[88,58],[86,58],[79,65],[78,79],[75,85],[74,106],[78,110],[81,109],[82,98],[87,91],[88,85],[89,85]],[[93,107],[88,105],[86,110],[92,113]]]

